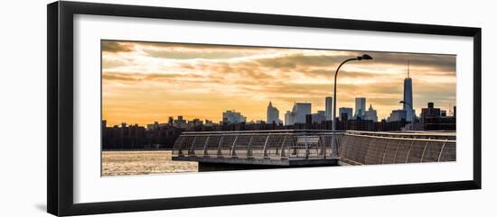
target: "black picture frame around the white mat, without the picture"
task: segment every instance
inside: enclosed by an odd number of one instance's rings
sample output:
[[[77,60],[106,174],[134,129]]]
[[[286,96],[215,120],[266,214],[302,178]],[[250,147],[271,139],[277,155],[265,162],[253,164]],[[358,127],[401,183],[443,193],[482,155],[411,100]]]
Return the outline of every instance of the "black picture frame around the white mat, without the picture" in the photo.
[[[254,23],[296,27],[316,27],[374,32],[407,32],[436,35],[467,36],[474,39],[474,175],[471,180],[419,183],[412,185],[380,185],[257,194],[223,194],[181,198],[157,198],[103,203],[73,202],[73,15],[94,14],[206,21],[220,23]],[[359,197],[386,194],[413,194],[482,187],[482,29],[414,23],[389,23],[331,19],[277,14],[178,9],[155,6],[108,5],[81,2],[54,2],[47,5],[47,210],[54,215],[79,215],[108,212],[136,212],[236,205],[277,203]],[[96,54],[97,55],[97,54]]]

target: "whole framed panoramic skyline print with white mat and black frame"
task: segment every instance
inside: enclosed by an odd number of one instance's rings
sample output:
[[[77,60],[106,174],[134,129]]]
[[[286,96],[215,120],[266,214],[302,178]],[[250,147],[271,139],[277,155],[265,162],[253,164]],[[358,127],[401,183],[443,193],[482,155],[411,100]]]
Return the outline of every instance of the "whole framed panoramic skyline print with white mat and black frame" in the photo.
[[[481,188],[481,29],[48,5],[48,212]]]

